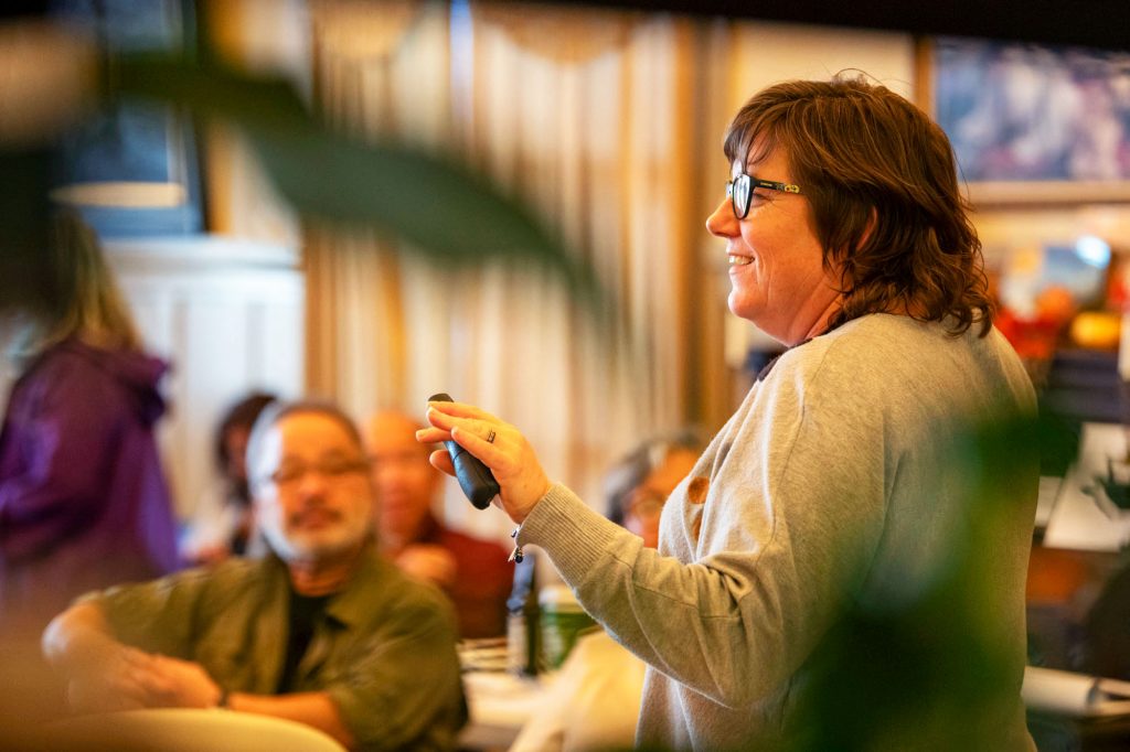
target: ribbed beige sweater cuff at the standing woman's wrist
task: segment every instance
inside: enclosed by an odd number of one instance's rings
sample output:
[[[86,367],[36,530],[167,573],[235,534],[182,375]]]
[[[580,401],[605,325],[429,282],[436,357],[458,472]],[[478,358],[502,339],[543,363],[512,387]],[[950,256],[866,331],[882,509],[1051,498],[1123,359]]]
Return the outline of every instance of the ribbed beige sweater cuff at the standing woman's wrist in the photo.
[[[518,542],[541,548],[562,578],[577,586],[607,553],[612,540],[629,534],[590,509],[565,486],[554,483],[522,523]]]

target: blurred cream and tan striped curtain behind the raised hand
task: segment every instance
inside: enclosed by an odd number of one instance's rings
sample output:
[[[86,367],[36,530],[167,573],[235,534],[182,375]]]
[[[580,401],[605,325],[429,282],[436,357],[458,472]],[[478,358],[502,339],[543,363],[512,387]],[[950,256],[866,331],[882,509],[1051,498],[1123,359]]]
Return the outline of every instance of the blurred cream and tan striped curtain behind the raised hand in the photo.
[[[311,386],[358,417],[421,413],[436,391],[476,402],[602,508],[608,463],[687,414],[693,248],[680,175],[692,155],[686,128],[672,126],[686,40],[670,19],[576,11],[557,11],[567,18],[542,26],[555,29],[547,37],[523,28],[525,15],[475,6],[457,17],[455,41],[446,7],[411,3],[392,6],[395,33],[373,34],[383,6],[312,7],[329,115],[462,154],[541,209],[623,309],[597,322],[557,280],[513,262],[445,271],[372,237],[312,233]],[[544,38],[554,46],[536,46]],[[507,526],[458,497],[447,508],[483,534]]]

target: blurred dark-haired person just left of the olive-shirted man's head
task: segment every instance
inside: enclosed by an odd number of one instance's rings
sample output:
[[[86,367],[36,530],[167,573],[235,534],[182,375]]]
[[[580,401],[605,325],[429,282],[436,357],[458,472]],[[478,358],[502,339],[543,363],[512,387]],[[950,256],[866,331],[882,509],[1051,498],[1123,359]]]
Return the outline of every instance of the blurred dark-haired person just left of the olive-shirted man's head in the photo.
[[[247,437],[259,413],[276,399],[273,394],[254,392],[232,405],[220,420],[216,431],[220,478],[200,498],[181,534],[184,561],[208,565],[233,554],[257,552],[247,489]]]

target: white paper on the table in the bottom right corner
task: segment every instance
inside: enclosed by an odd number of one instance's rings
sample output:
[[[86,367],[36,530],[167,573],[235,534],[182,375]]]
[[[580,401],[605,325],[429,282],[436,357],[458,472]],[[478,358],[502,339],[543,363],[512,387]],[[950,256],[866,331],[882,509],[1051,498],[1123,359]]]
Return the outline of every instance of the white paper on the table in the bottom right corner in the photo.
[[[1027,666],[1024,703],[1074,718],[1130,715],[1130,682]]]

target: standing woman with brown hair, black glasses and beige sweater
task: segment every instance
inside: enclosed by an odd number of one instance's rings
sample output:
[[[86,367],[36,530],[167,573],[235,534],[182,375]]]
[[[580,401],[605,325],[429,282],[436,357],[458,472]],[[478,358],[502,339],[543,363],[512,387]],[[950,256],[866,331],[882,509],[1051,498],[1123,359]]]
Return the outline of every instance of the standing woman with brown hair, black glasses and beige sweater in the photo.
[[[837,77],[755,95],[723,151],[706,227],[729,307],[789,349],[667,500],[658,551],[478,408],[432,403],[419,438],[481,458],[518,546],[548,552],[649,664],[640,744],[1031,749],[1038,471],[949,463],[966,421],[1003,425],[1034,393],[992,327],[948,139],[887,88]],[[980,505],[970,467],[1012,502]]]

